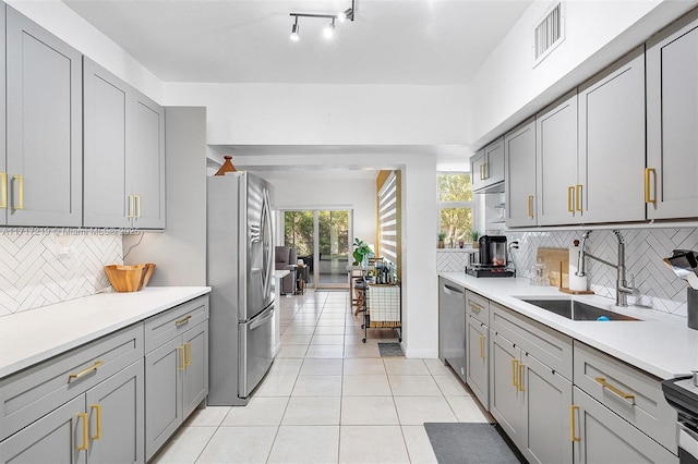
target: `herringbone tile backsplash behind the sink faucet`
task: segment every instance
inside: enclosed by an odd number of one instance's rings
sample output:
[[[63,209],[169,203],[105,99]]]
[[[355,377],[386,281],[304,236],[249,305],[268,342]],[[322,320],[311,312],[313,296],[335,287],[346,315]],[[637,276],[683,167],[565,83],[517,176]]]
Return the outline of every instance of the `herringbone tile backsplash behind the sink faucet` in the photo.
[[[686,316],[687,283],[664,265],[662,258],[673,249],[698,251],[698,229],[627,229],[621,230],[625,239],[627,278],[635,278],[641,300],[638,304],[654,309]],[[507,231],[508,241],[519,241],[514,249],[517,274],[530,277],[539,246],[568,248],[582,231],[515,232]],[[618,260],[618,242],[611,230],[594,230],[587,240],[587,251],[610,262]],[[615,301],[616,270],[594,260],[587,260],[589,288],[598,295]],[[633,298],[628,298],[633,303]]]

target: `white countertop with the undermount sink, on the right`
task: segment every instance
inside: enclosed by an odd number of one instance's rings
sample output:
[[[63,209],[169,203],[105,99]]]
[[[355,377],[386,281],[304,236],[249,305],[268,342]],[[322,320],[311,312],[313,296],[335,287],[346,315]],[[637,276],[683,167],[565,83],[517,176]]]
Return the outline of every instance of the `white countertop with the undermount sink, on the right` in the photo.
[[[698,330],[689,329],[685,317],[654,309],[621,308],[610,298],[568,295],[553,286],[530,285],[525,278],[478,279],[465,272],[440,276],[662,379],[698,369]],[[573,298],[641,320],[569,320],[517,296]]]

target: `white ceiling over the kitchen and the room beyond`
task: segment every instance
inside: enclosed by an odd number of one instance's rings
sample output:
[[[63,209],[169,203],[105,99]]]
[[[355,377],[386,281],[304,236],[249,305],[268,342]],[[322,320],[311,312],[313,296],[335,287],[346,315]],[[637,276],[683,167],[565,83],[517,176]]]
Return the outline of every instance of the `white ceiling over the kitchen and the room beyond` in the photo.
[[[336,14],[351,0],[63,1],[164,82],[462,85],[532,0],[356,0],[356,20],[338,23],[333,39],[322,37],[327,20],[301,17],[297,42],[289,13]],[[257,157],[318,154],[308,146],[232,148]],[[320,147],[347,155],[327,148]],[[437,159],[468,152],[418,149]]]

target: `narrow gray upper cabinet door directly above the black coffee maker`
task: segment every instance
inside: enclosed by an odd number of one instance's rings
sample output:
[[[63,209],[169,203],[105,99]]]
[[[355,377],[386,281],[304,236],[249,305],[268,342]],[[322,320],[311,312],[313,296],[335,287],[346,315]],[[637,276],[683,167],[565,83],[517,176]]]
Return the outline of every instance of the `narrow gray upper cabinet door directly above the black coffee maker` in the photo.
[[[535,120],[504,137],[507,227],[535,225]]]

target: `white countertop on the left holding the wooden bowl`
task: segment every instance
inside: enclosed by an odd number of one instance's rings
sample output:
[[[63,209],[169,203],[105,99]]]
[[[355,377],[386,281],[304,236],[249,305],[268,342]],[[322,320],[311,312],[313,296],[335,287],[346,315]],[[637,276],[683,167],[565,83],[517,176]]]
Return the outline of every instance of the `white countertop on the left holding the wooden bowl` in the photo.
[[[208,292],[209,286],[146,286],[0,317],[0,378]]]

